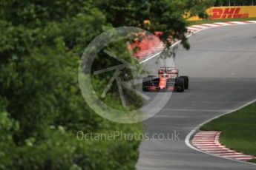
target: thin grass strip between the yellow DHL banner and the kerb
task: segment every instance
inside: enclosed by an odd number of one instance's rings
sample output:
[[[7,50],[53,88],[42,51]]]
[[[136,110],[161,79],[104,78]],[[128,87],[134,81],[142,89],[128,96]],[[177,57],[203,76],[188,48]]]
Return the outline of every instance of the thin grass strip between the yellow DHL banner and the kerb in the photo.
[[[188,21],[188,26],[198,24],[211,24],[214,22],[228,22],[228,21],[256,21],[256,18],[226,18],[226,19],[211,19],[201,21]]]

